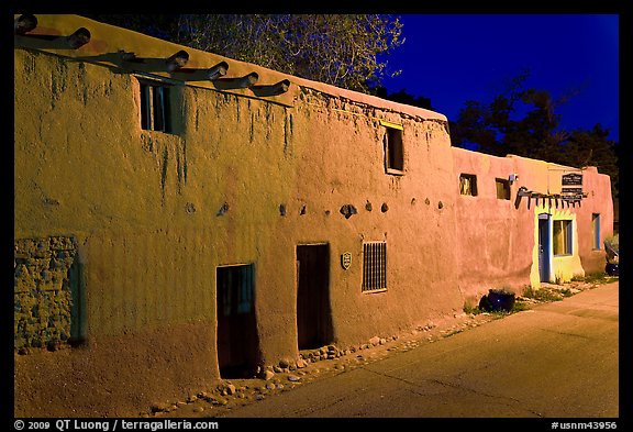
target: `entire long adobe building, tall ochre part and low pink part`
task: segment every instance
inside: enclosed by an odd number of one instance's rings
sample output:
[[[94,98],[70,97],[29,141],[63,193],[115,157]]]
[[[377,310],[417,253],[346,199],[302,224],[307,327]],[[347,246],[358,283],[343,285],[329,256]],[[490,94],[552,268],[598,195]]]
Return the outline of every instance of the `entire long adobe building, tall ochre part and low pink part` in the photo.
[[[15,15],[14,413],[136,416],[604,268],[610,178],[77,15]]]

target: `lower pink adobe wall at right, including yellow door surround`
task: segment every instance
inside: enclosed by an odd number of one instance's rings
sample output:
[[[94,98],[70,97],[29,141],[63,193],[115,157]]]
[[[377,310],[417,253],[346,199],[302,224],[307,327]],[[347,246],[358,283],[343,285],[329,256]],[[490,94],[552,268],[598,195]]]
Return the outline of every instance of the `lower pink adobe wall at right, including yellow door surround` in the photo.
[[[562,176],[578,168],[509,155],[496,157],[463,148],[453,148],[457,193],[457,261],[465,302],[476,306],[490,288],[522,292],[541,286],[538,274],[538,214],[553,221],[571,220],[574,254],[553,256],[552,281],[604,270],[604,247],[593,248],[592,213],[600,213],[602,241],[612,234],[612,200],[609,176],[596,167],[585,167],[582,191],[586,197],[574,206],[546,199],[517,199],[521,187],[544,195],[562,191]],[[478,195],[459,195],[459,175],[477,176]],[[511,185],[510,200],[496,196],[495,179],[518,180]],[[530,201],[530,203],[528,202]]]

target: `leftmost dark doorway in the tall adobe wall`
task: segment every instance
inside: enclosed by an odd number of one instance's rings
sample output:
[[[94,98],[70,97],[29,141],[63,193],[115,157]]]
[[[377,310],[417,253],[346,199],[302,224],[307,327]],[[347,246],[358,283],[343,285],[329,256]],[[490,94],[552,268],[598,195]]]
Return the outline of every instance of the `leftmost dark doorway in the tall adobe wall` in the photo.
[[[257,365],[254,266],[218,267],[218,364],[221,378],[242,378]]]

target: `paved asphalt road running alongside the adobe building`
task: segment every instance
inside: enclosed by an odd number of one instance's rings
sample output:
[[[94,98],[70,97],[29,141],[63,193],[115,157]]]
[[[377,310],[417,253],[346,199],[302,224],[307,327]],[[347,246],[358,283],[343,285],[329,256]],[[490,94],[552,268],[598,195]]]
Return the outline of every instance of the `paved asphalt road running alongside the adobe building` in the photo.
[[[618,283],[266,398],[238,418],[618,418]]]

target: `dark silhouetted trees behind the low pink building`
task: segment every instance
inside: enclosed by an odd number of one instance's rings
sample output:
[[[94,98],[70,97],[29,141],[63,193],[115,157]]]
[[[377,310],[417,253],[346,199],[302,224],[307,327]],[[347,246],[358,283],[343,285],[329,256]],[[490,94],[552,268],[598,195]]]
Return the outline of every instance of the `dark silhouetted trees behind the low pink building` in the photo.
[[[565,131],[556,109],[578,93],[554,98],[549,91],[525,88],[528,73],[512,78],[491,102],[467,101],[451,123],[453,145],[497,156],[514,154],[582,168],[596,166],[611,176],[612,193],[619,193],[619,146],[608,140],[609,130]]]

